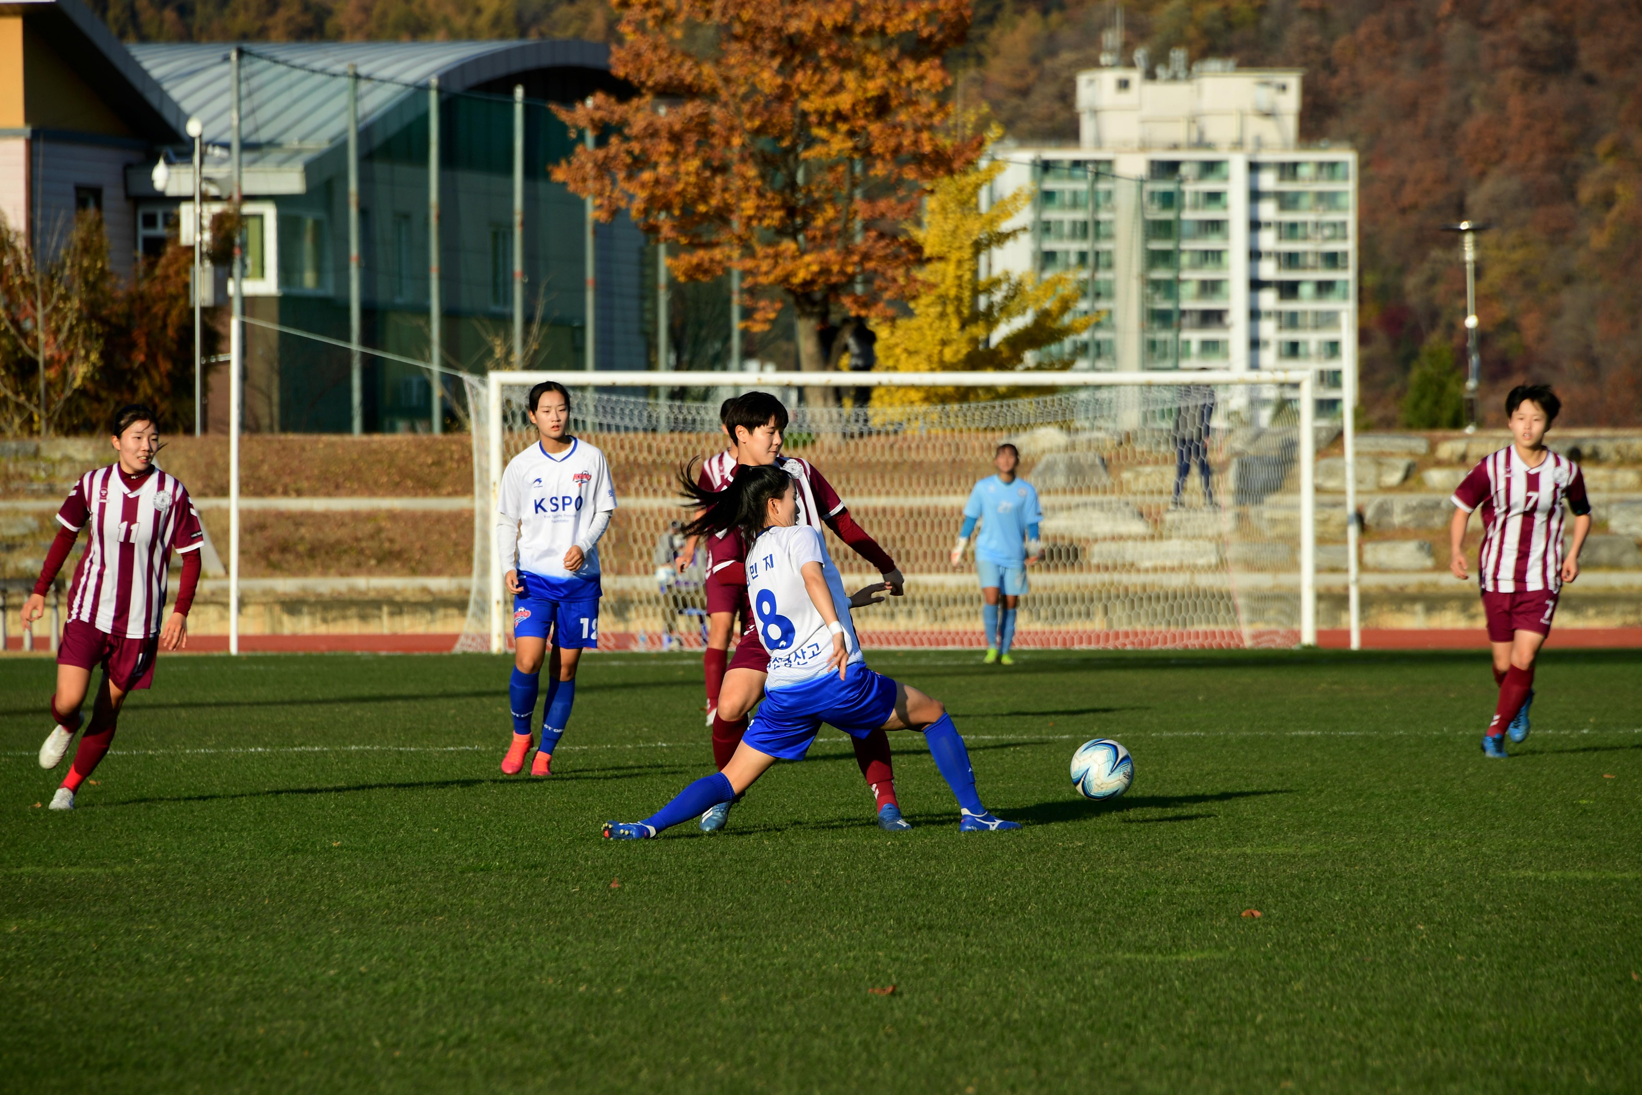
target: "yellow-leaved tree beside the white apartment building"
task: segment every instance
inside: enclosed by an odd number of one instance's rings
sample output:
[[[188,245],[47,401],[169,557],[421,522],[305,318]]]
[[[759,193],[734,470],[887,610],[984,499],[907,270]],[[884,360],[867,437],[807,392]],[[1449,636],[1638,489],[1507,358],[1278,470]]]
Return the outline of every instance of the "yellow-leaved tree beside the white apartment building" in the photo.
[[[1087,332],[1098,315],[1072,315],[1082,300],[1074,271],[1048,277],[993,273],[980,276],[980,256],[1030,228],[1008,223],[1031,204],[1021,187],[990,208],[980,194],[1003,174],[1000,161],[939,179],[924,202],[923,225],[911,236],[923,246],[920,289],[908,305],[911,315],[887,323],[878,335],[878,368],[901,373],[1013,371],[1028,364],[1067,368],[1061,353],[1034,353],[1064,345]],[[1002,378],[1000,378],[1002,381]],[[949,402],[995,399],[1000,389],[885,387],[875,404]]]

